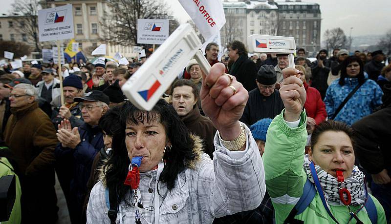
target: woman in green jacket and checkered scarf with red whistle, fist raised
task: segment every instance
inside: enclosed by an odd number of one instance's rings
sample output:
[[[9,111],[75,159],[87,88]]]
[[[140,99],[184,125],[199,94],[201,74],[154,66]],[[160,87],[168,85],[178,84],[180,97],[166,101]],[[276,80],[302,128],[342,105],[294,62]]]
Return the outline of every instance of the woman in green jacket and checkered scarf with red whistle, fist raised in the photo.
[[[304,156],[306,94],[300,74],[294,68],[283,70],[285,109],[270,124],[262,156],[276,223],[385,224],[383,207],[368,194],[365,176],[354,165],[353,134],[346,124],[320,123]],[[303,208],[302,196],[309,197],[310,189],[315,193]],[[368,201],[374,212],[367,210]]]

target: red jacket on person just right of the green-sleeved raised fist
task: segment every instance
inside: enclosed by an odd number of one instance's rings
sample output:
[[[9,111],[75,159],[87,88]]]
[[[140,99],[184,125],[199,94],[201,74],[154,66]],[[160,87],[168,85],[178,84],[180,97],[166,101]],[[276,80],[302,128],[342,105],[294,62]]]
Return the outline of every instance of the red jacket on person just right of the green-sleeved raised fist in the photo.
[[[326,120],[326,105],[322,101],[321,94],[314,87],[310,87],[304,82],[304,88],[307,92],[307,100],[304,108],[308,117],[315,119],[316,125]]]

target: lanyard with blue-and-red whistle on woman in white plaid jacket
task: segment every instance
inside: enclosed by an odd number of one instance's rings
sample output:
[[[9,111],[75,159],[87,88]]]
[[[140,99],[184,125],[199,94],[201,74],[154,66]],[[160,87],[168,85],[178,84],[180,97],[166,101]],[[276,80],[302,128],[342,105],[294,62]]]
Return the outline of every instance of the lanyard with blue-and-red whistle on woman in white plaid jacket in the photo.
[[[125,180],[125,184],[130,185],[131,189],[133,190],[132,204],[134,205],[135,208],[134,218],[136,224],[141,224],[141,219],[140,219],[140,217],[142,216],[141,209],[144,208],[142,206],[141,193],[137,193],[140,184],[140,171],[138,170],[138,167],[141,165],[141,159],[142,157],[132,158],[131,163],[129,165],[129,173]],[[157,191],[157,184],[159,182],[160,174],[163,171],[163,168],[164,168],[164,163],[160,162],[157,166],[155,192],[154,192],[153,210],[155,212],[155,220],[154,220],[155,224],[159,222],[159,216],[160,216],[160,211],[159,211],[160,202],[159,202],[159,194]]]

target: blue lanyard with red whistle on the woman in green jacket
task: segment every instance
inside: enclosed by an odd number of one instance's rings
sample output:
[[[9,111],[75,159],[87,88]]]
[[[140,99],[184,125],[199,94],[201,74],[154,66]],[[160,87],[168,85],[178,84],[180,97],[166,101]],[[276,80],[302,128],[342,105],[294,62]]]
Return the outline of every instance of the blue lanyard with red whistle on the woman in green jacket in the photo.
[[[334,220],[334,222],[339,224],[339,222],[334,218],[333,214],[331,213],[330,208],[328,207],[328,204],[327,204],[326,198],[325,198],[325,194],[323,193],[323,188],[321,186],[321,183],[319,182],[318,174],[316,172],[315,165],[314,165],[313,162],[309,164],[309,168],[311,170],[311,174],[312,174],[312,177],[314,179],[316,190],[319,193],[319,196],[320,196],[320,198],[322,200],[323,206],[325,207],[328,215]],[[337,178],[338,178],[338,182],[339,183],[344,182],[344,177],[343,177],[343,175],[341,176],[341,173],[337,174]],[[365,188],[365,190],[366,190],[365,194],[368,197],[367,188]],[[348,195],[348,200],[345,200],[344,193],[346,193]],[[358,219],[356,214],[359,211],[361,211],[361,209],[364,207],[364,205],[361,206],[361,208],[356,213],[354,213],[353,211],[351,211],[350,206],[349,206],[351,204],[351,196],[350,196],[350,192],[348,191],[348,189],[347,188],[340,188],[339,189],[339,195],[340,195],[340,200],[342,201],[342,203],[345,204],[348,207],[348,209],[349,209],[349,215],[350,215],[349,222],[354,218],[357,221],[357,224],[363,224],[363,222]]]

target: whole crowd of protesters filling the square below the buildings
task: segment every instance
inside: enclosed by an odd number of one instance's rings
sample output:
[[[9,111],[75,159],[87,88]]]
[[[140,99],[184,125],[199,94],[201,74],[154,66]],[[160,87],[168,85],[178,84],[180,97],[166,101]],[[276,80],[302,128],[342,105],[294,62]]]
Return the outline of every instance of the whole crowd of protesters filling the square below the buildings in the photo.
[[[62,88],[56,64],[1,67],[9,222],[57,222],[56,173],[72,224],[391,223],[383,52],[301,48],[289,68],[227,47],[219,61],[209,43],[209,75],[192,59],[151,111],[121,91],[145,57],[70,61]]]

